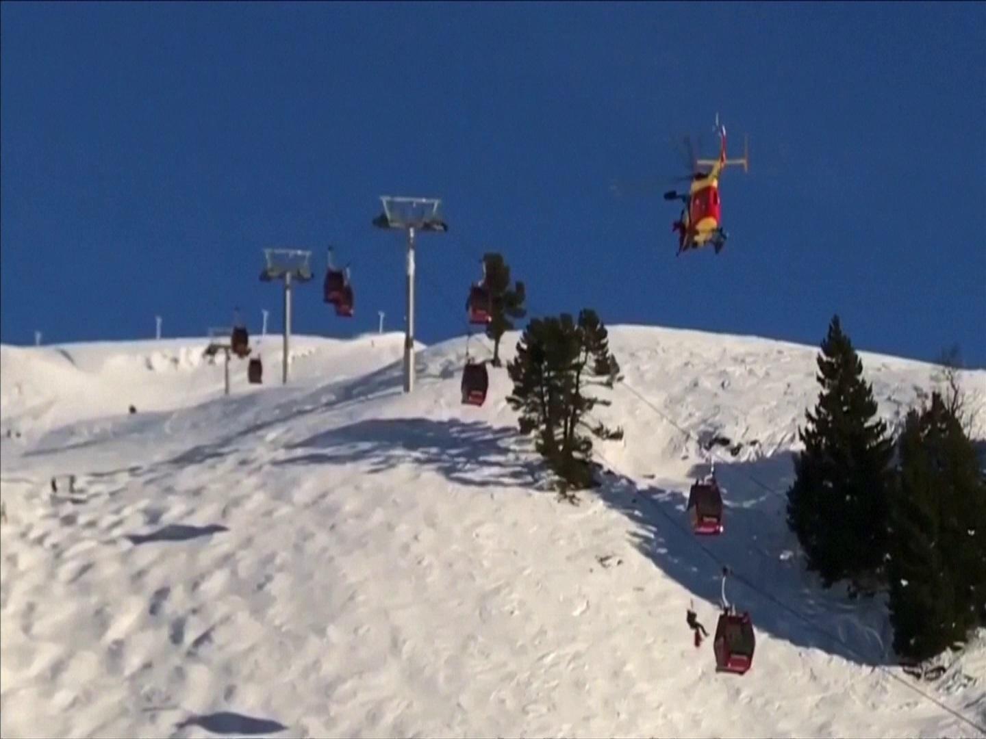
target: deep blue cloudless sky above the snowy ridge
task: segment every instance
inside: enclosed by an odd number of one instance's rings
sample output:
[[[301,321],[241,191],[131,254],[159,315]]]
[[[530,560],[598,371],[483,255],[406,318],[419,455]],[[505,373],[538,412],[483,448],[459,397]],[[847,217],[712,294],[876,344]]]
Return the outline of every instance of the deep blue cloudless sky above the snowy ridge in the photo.
[[[201,335],[281,323],[260,249],[316,252],[295,328],[402,327],[379,195],[440,196],[418,338],[465,332],[485,248],[535,313],[986,367],[986,5],[2,5],[0,334]],[[675,258],[671,137],[714,149],[731,238]],[[613,178],[658,178],[618,199]],[[353,263],[356,317],[320,300]]]

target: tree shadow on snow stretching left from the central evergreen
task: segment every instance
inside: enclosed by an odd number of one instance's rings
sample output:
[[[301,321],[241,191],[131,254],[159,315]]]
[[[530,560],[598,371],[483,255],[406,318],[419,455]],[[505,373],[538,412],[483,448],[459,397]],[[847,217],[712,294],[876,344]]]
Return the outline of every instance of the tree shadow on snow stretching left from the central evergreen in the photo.
[[[426,418],[372,419],[317,434],[288,449],[317,449],[275,465],[369,462],[371,473],[401,463],[432,467],[458,485],[530,485],[543,475],[513,448],[513,428]]]

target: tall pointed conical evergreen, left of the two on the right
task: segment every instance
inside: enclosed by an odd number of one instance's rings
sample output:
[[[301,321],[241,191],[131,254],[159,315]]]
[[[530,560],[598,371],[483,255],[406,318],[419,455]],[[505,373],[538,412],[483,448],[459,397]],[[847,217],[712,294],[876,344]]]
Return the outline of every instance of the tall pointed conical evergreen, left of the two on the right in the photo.
[[[886,554],[892,441],[837,315],[817,365],[821,391],[799,429],[805,450],[795,458],[788,524],[825,587],[848,578],[853,592],[872,591]]]

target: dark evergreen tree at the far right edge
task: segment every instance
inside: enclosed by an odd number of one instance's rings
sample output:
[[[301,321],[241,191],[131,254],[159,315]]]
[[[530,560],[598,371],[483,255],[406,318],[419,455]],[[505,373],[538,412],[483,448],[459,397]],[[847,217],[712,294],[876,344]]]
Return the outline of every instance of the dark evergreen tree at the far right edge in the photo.
[[[891,504],[893,647],[934,656],[986,626],[986,481],[951,398],[911,411]]]

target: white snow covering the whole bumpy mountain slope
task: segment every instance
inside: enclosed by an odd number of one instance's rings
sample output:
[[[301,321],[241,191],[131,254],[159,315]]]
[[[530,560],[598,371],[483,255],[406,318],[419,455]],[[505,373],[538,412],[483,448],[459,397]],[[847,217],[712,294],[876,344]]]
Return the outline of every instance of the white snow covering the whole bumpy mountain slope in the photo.
[[[882,602],[804,571],[784,492],[816,348],[610,327],[628,386],[595,415],[626,437],[570,505],[506,370],[462,406],[464,338],[422,347],[404,395],[402,341],[295,337],[282,386],[266,337],[264,384],[234,360],[230,397],[205,339],[0,347],[0,733],[978,735],[907,684],[986,723],[986,635],[915,683]],[[932,384],[862,359],[889,423]],[[986,371],[962,382],[986,406]],[[699,540],[716,437],[726,529]],[[693,600],[714,630],[723,563],[756,626],[742,677],[685,624]]]

